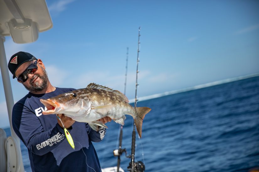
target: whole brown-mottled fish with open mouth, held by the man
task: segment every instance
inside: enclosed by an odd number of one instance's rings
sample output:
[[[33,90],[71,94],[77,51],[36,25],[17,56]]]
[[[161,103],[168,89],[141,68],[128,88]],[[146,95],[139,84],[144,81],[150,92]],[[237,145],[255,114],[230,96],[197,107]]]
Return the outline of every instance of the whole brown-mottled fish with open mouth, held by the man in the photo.
[[[148,107],[135,108],[120,91],[96,83],[49,99],[40,99],[40,102],[47,109],[42,114],[64,114],[75,121],[88,123],[95,131],[98,131],[99,126],[108,128],[98,121],[101,118],[108,116],[116,123],[124,125],[125,115],[131,115],[140,137],[143,119],[151,110]]]

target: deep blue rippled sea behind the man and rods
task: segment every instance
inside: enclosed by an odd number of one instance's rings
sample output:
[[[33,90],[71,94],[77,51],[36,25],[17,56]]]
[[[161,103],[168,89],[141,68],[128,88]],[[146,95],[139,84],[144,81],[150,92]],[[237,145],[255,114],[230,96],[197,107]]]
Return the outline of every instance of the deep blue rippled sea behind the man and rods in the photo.
[[[152,110],[136,138],[137,161],[146,171],[221,172],[259,167],[259,77],[140,101]],[[94,143],[102,168],[116,166],[119,124],[107,123],[105,138]],[[133,120],[127,115],[122,148],[131,153]],[[10,129],[5,129],[10,135]],[[21,143],[24,168],[31,171]],[[121,168],[130,162],[125,153]]]

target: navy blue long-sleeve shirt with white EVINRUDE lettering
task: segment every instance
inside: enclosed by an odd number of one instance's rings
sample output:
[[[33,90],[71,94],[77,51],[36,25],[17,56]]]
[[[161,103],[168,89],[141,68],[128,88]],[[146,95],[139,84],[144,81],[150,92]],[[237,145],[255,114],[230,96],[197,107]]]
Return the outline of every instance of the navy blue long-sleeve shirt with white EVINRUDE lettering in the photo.
[[[48,99],[72,90],[74,89],[56,88],[46,94],[29,92],[13,106],[13,129],[28,148],[33,172],[101,171],[91,141],[101,141],[105,129],[97,132],[87,123],[76,121],[68,129],[74,140],[73,149],[65,137],[64,129],[57,124],[56,115],[42,115],[46,107],[40,99]]]

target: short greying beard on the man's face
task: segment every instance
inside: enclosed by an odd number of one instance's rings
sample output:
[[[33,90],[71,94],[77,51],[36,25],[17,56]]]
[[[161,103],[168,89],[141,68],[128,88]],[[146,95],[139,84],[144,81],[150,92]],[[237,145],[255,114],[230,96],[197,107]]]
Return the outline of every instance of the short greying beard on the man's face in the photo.
[[[47,74],[47,72],[46,72],[46,70],[45,70],[44,68],[42,68],[41,66],[40,66],[40,68],[41,68],[42,71],[43,71],[43,75],[40,76],[40,75],[38,75],[38,74],[35,74],[34,77],[30,80],[30,85],[31,85],[30,88],[27,87],[27,86],[25,86],[24,83],[23,83],[25,89],[27,89],[27,90],[30,91],[30,92],[40,92],[40,91],[44,90],[44,89],[47,87],[48,74]],[[31,82],[32,82],[36,77],[41,78],[41,79],[42,79],[42,83],[39,84],[38,82],[36,82],[36,83],[35,83],[36,86],[33,86],[33,84],[32,84]]]

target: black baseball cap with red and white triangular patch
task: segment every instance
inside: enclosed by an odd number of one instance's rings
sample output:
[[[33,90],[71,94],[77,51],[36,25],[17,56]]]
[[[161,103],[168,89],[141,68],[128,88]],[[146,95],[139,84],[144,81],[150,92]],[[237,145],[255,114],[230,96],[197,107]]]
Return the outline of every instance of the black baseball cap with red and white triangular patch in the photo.
[[[15,71],[19,68],[21,64],[34,59],[37,60],[37,58],[35,58],[30,53],[26,53],[23,51],[19,51],[18,53],[13,54],[8,63],[8,68],[13,74],[13,78],[15,78]]]

